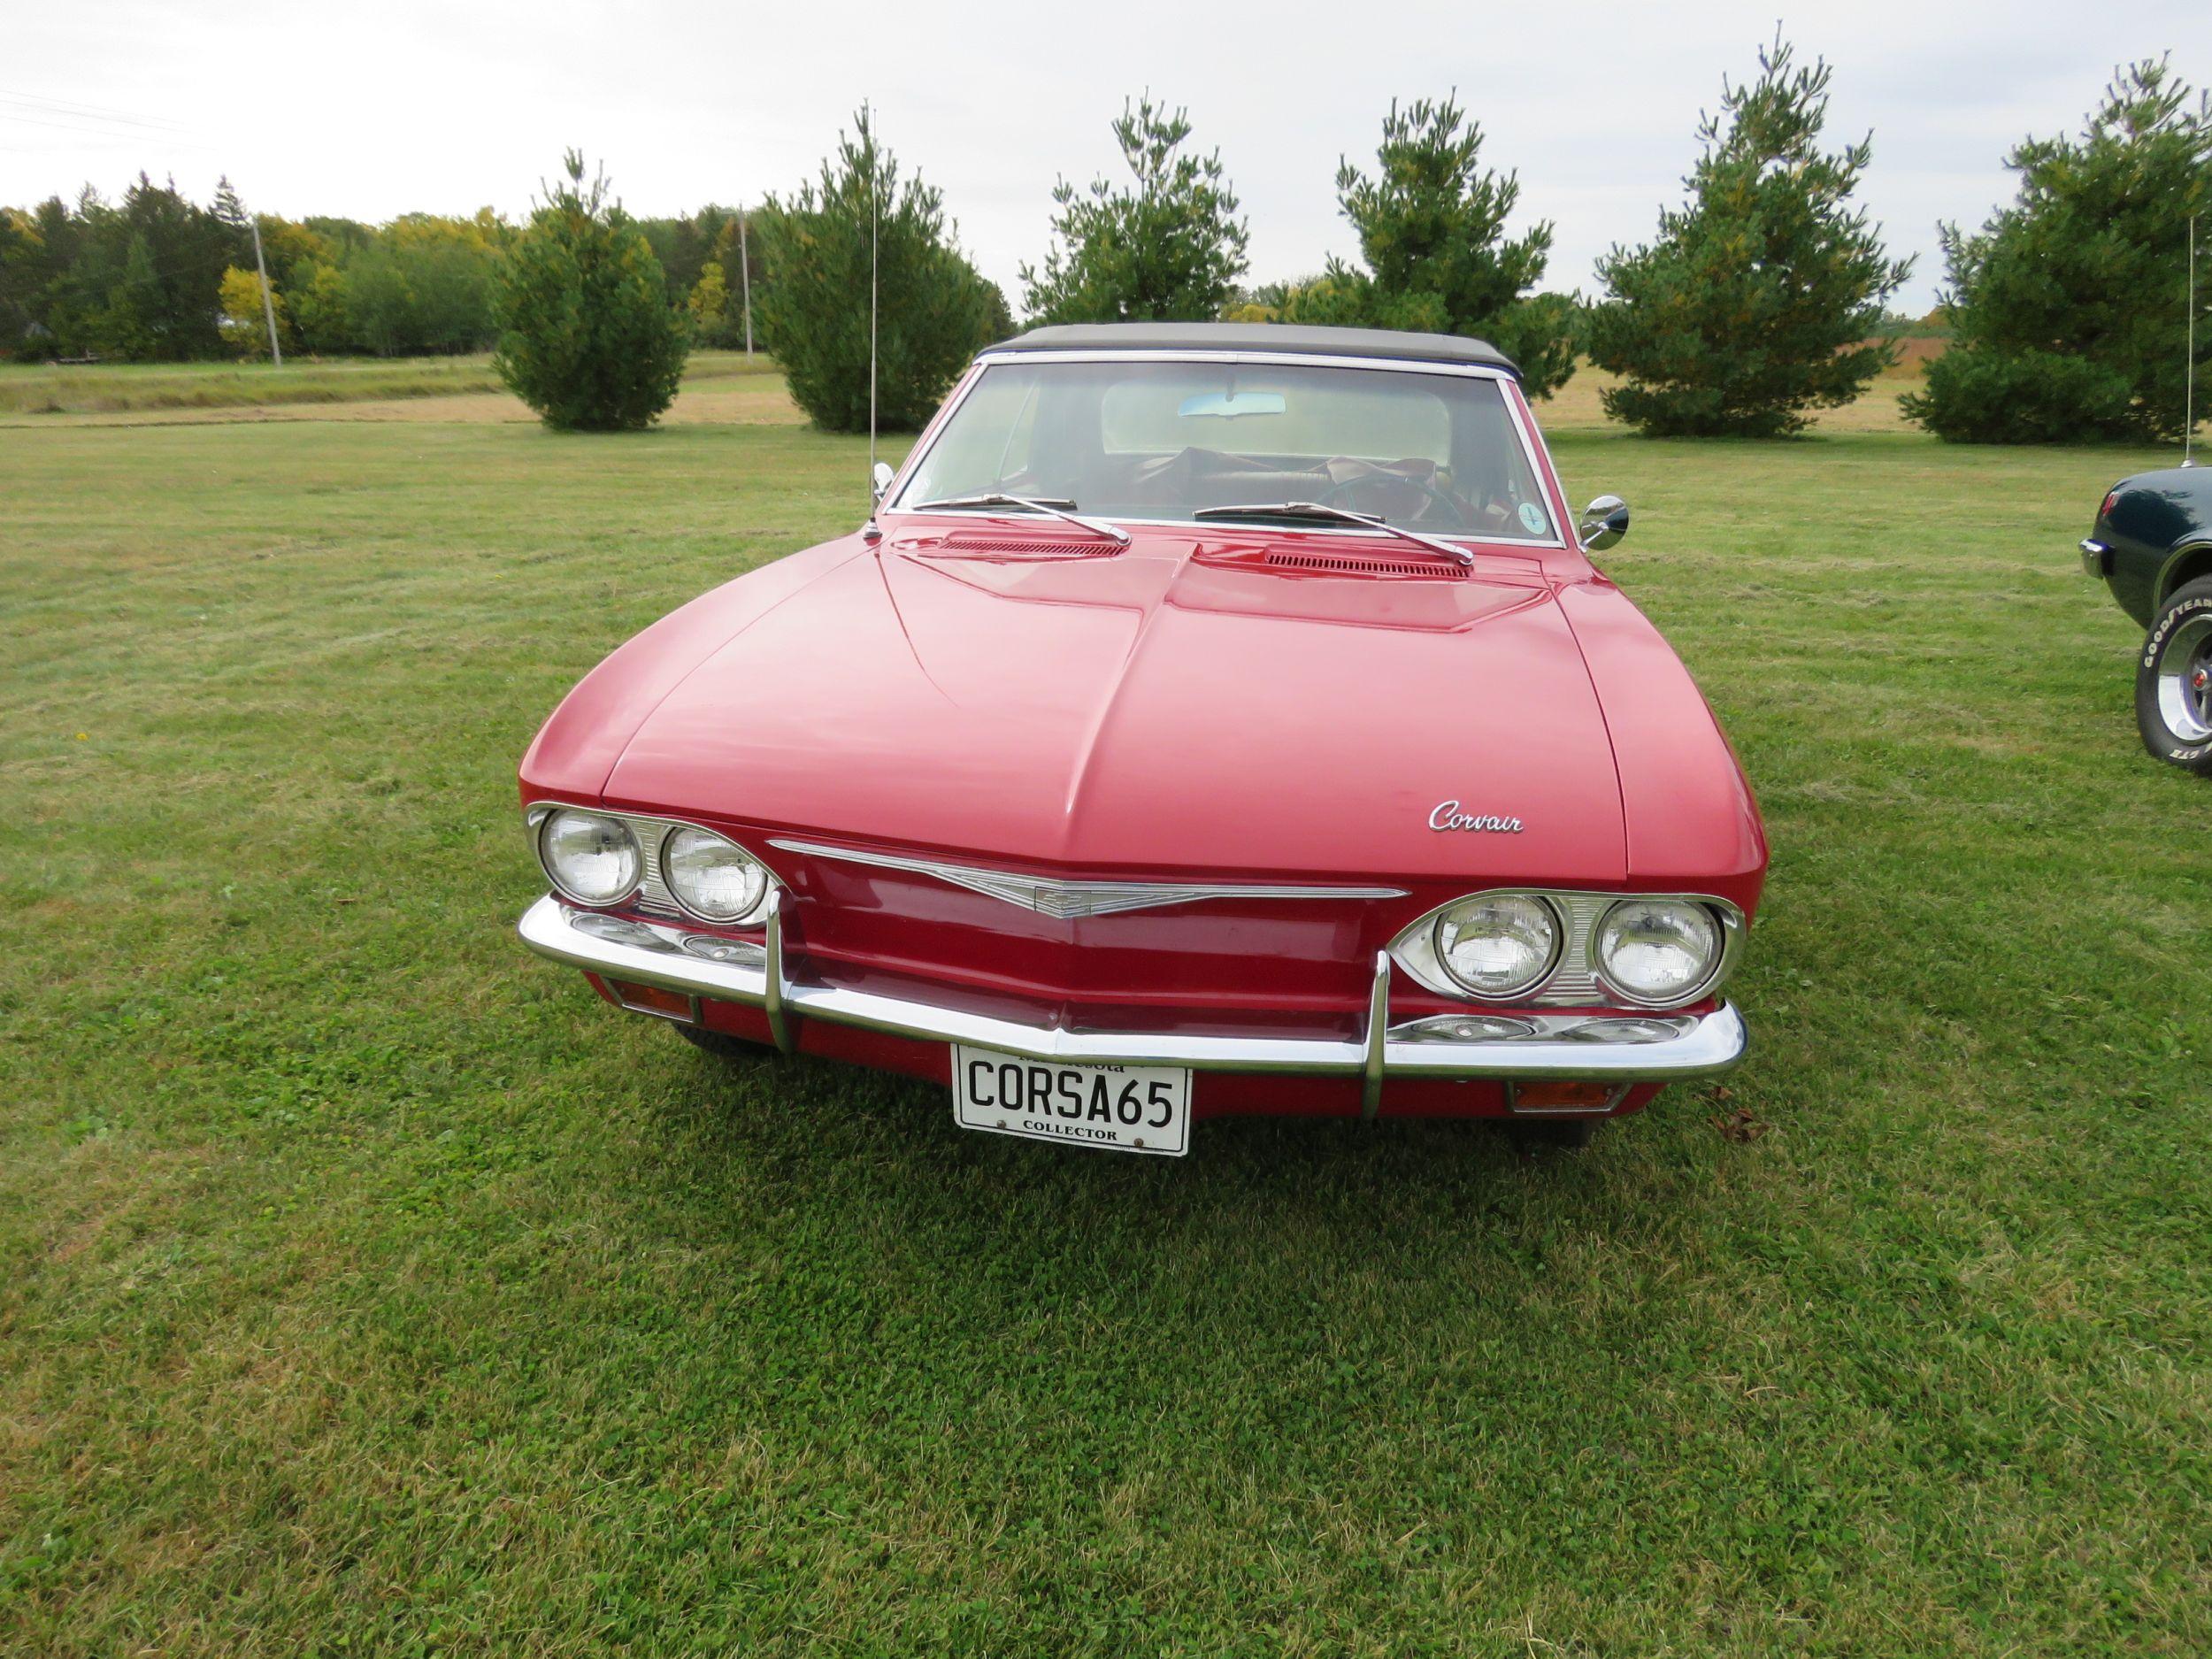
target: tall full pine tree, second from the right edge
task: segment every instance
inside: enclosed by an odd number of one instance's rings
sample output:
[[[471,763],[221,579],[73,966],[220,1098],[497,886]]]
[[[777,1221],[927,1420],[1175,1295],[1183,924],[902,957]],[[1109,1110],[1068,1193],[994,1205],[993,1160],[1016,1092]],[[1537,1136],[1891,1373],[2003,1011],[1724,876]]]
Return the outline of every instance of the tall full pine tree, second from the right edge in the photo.
[[[1776,438],[1812,409],[1851,403],[1896,356],[1885,301],[1911,274],[1891,261],[1851,190],[1871,135],[1818,148],[1829,66],[1794,69],[1776,35],[1759,80],[1721,86],[1699,126],[1690,201],[1659,239],[1597,261],[1590,361],[1624,376],[1606,411],[1652,436]]]

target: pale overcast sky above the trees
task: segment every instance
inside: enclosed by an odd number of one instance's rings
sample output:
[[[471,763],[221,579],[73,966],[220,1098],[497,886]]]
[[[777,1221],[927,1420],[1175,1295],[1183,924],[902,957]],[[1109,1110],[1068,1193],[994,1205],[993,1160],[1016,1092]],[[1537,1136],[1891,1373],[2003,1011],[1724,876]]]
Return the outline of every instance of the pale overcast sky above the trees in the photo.
[[[0,201],[106,195],[139,170],[261,212],[522,215],[564,146],[602,157],[633,212],[750,201],[810,175],[867,97],[885,144],[945,190],[982,270],[1022,307],[1057,175],[1117,168],[1108,122],[1150,88],[1186,104],[1252,221],[1252,281],[1354,252],[1340,155],[1371,161],[1391,97],[1453,88],[1517,221],[1557,226],[1546,288],[1593,288],[1652,232],[1721,77],[1776,15],[1836,66],[1829,133],[1874,131],[1865,199],[1902,301],[1933,303],[1936,221],[2011,195],[2006,148],[2081,124],[2115,64],[2172,51],[2212,77],[2208,0],[1854,7],[1429,4],[425,4],[7,0]]]

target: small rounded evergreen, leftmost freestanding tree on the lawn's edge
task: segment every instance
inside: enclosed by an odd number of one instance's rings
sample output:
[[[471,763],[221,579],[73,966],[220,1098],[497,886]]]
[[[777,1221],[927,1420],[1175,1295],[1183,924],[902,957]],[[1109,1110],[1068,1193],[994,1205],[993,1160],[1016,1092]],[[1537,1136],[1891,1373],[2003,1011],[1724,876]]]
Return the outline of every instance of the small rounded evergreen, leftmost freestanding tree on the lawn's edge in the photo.
[[[606,173],[586,186],[580,150],[566,170],[500,272],[491,365],[549,427],[648,427],[677,396],[690,336]]]

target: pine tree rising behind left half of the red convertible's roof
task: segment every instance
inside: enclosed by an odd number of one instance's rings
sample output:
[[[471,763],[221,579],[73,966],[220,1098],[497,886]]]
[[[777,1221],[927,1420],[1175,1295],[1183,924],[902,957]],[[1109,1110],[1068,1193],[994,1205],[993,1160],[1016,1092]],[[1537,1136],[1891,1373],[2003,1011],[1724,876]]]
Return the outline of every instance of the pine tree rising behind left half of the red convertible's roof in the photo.
[[[1053,188],[1055,246],[1044,270],[1022,265],[1037,323],[1199,323],[1221,314],[1245,272],[1250,232],[1221,153],[1183,155],[1190,113],[1168,113],[1146,93],[1121,104],[1115,144],[1135,188],[1095,179],[1077,195]]]

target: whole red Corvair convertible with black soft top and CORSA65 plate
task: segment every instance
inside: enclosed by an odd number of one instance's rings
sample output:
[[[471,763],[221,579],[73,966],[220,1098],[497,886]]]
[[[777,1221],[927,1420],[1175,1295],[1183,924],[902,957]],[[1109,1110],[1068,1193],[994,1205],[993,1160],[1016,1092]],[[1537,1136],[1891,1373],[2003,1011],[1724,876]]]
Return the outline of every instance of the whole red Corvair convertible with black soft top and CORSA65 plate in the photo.
[[[1225,1113],[1579,1141],[1736,1064],[1767,849],[1453,336],[1044,327],[852,535],[602,661],[522,761],[524,942],[703,1048],[1181,1155]]]

